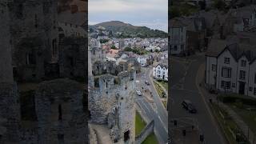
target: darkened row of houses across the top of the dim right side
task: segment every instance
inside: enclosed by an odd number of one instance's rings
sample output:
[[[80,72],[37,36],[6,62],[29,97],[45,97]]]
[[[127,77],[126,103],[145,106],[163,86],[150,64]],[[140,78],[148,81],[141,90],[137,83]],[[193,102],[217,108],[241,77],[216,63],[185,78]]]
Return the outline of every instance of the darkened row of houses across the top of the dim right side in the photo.
[[[238,32],[256,31],[256,6],[230,9],[199,11],[189,17],[174,18],[170,21],[171,54],[193,54],[205,50],[211,38],[225,39]]]

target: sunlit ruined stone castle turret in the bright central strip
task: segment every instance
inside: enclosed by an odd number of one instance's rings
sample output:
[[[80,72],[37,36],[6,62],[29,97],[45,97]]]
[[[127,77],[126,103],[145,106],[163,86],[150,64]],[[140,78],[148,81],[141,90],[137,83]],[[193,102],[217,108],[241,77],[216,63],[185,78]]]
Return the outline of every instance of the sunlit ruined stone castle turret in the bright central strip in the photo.
[[[100,49],[97,48],[97,52],[101,52]],[[90,67],[93,76],[89,91],[90,122],[108,126],[114,143],[134,143],[136,72],[128,63],[121,63],[94,58]]]

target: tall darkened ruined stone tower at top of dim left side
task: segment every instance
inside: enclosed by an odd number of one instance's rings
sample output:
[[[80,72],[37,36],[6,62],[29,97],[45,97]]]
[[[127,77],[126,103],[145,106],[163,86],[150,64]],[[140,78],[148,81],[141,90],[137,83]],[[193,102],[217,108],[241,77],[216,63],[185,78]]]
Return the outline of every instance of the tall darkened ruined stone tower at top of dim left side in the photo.
[[[44,63],[53,61],[53,47],[58,46],[57,1],[13,0],[8,7],[16,76],[20,81],[42,81]]]

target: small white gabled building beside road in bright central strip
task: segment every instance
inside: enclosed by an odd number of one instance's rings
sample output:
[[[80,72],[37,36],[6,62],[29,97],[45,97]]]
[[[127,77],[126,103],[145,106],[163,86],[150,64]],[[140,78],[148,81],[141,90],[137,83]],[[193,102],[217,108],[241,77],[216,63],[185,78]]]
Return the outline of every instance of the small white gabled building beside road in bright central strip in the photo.
[[[168,66],[159,63],[153,67],[153,77],[158,80],[168,81]]]

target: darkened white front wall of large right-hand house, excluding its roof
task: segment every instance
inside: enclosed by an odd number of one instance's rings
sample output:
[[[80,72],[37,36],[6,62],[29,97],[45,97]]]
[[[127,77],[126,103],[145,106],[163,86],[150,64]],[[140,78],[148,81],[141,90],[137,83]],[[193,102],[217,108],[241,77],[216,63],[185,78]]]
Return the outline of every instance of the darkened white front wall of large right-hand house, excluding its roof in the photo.
[[[256,61],[249,62],[244,54],[236,60],[229,49],[217,57],[206,56],[206,85],[222,92],[256,98]]]

